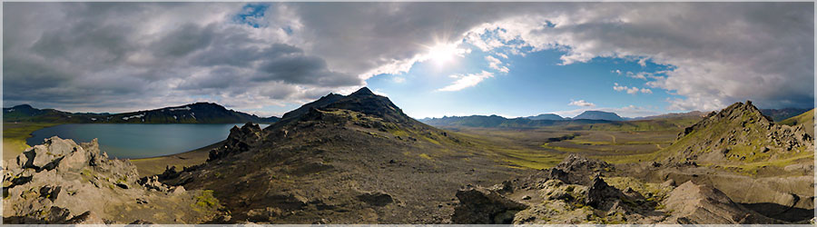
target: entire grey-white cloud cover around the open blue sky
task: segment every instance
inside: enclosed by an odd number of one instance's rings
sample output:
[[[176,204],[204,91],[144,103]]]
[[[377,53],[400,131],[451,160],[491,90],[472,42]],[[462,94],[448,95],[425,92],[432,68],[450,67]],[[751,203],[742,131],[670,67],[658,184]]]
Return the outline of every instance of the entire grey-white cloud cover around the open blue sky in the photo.
[[[662,76],[634,76],[676,94],[666,100],[673,109],[746,99],[765,108],[814,104],[811,3],[4,6],[7,104],[113,111],[192,100],[301,103],[408,72],[436,44],[474,45],[497,60],[552,49],[563,52],[561,64],[612,57],[671,65]],[[645,89],[638,93],[653,92]]]

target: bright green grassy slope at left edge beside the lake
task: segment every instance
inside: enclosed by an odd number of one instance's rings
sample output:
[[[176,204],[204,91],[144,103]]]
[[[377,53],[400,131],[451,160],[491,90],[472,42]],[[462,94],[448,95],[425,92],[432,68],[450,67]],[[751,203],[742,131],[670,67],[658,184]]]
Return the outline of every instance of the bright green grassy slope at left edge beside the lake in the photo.
[[[3,123],[3,159],[12,159],[23,153],[28,148],[25,139],[31,137],[34,131],[57,124],[59,123]]]

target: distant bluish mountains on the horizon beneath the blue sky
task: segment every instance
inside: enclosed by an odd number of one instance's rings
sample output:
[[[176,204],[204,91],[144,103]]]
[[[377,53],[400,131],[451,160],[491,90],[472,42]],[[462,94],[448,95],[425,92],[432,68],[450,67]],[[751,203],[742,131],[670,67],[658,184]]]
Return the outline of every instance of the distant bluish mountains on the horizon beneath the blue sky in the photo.
[[[590,123],[610,123],[605,120],[532,120],[529,118],[519,117],[508,119],[502,116],[490,115],[471,115],[471,116],[446,116],[442,118],[424,118],[421,119],[423,123],[438,127],[481,127],[481,128],[523,128],[523,127],[542,127],[554,125],[579,125]]]

